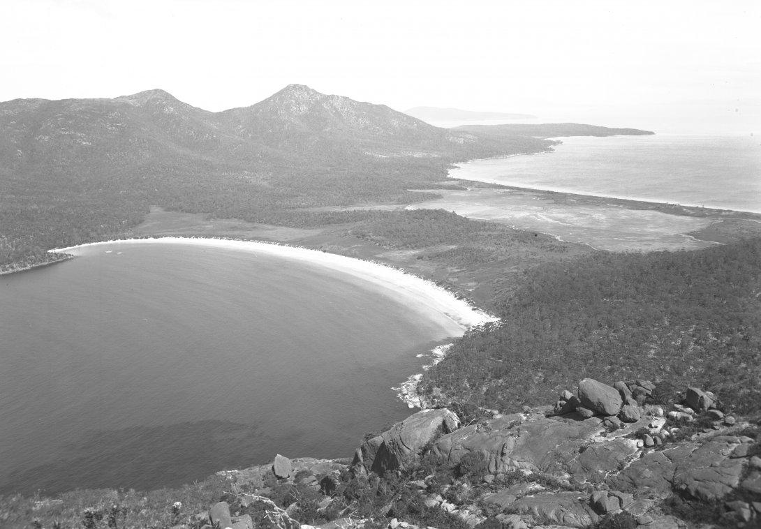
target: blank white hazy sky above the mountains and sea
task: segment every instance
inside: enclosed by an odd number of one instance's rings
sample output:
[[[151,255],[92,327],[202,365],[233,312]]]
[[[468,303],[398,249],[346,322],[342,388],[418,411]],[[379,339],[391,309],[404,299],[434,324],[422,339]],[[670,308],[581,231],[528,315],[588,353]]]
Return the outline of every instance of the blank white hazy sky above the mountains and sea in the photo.
[[[388,104],[761,134],[761,2],[2,0],[0,100],[288,83]]]

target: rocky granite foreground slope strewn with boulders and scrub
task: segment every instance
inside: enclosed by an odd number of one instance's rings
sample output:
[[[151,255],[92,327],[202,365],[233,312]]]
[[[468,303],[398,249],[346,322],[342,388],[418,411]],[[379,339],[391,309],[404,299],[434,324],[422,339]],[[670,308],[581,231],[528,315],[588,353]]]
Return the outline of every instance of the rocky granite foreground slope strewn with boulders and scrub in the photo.
[[[699,388],[661,394],[650,381],[585,379],[554,406],[488,410],[491,418],[468,424],[449,409],[424,409],[369,436],[352,460],[278,455],[225,473],[227,501],[191,523],[761,527],[759,426],[725,415]]]

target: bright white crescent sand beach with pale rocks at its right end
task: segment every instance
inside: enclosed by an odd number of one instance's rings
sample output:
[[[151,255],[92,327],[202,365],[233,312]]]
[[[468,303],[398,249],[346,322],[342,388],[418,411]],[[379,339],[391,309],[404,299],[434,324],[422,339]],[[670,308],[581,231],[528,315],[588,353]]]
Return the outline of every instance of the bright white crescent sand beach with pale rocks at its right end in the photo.
[[[196,238],[196,237],[154,237],[141,239],[125,239],[81,244],[73,247],[56,248],[51,252],[80,255],[81,250],[98,246],[114,244],[177,244],[190,245],[220,250],[235,250],[249,253],[260,253],[288,260],[301,261],[310,266],[320,266],[339,274],[345,274],[359,279],[369,287],[374,288],[390,298],[406,304],[424,317],[437,321],[448,337],[462,336],[466,330],[495,322],[498,318],[474,308],[467,301],[458,299],[434,282],[414,276],[400,269],[392,268],[381,263],[345,257],[335,253],[320,250],[310,250],[302,247],[272,244],[264,241],[237,241],[230,239]],[[443,358],[447,347],[437,347],[433,351],[435,362]],[[424,366],[428,368],[429,366]],[[421,406],[421,400],[413,387],[419,381],[421,374],[414,374],[403,382],[399,397],[408,406]]]

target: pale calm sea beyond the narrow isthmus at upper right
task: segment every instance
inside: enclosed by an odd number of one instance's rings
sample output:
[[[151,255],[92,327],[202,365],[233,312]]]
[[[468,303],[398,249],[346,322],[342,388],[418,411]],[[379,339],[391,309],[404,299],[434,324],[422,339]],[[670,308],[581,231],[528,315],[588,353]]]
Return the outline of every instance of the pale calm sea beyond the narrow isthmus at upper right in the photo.
[[[465,180],[686,206],[761,212],[761,138],[562,138],[542,155],[477,160],[450,171]]]

